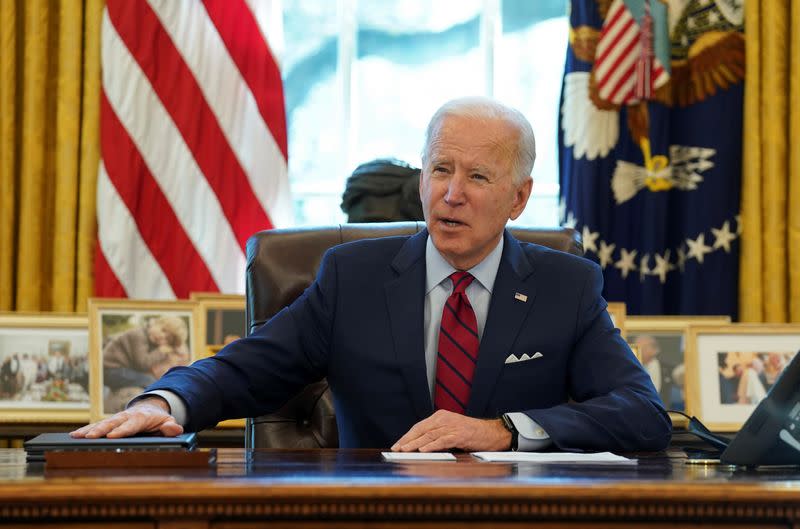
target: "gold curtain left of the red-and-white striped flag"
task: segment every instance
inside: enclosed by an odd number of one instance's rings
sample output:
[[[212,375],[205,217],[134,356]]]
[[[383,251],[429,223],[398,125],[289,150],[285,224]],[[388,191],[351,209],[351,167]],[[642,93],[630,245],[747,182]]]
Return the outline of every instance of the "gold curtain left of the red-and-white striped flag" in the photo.
[[[0,311],[86,310],[102,9],[0,1]]]

